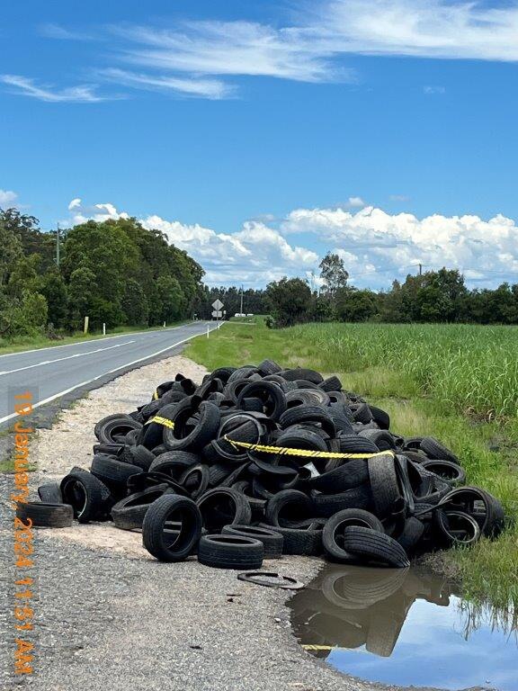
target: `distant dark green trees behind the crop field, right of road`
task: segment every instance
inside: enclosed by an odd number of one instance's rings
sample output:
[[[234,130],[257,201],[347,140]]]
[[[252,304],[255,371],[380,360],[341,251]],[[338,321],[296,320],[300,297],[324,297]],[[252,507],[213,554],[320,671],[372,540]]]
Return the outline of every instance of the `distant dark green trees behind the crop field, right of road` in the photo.
[[[320,264],[322,287],[311,291],[300,278],[282,278],[265,291],[270,325],[286,327],[307,321],[468,322],[518,324],[518,283],[495,290],[469,290],[456,269],[442,268],[394,281],[387,292],[348,284],[344,261],[328,253]]]

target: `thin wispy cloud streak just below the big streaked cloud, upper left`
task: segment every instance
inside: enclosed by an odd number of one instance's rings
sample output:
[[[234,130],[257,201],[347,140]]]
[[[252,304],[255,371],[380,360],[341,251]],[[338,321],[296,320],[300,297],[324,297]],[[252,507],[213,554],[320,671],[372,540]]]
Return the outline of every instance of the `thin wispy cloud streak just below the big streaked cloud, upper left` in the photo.
[[[228,98],[235,89],[220,79],[156,76],[129,72],[124,69],[103,69],[98,72],[103,79],[117,84],[150,91],[178,92],[186,96],[204,96],[218,100]]]

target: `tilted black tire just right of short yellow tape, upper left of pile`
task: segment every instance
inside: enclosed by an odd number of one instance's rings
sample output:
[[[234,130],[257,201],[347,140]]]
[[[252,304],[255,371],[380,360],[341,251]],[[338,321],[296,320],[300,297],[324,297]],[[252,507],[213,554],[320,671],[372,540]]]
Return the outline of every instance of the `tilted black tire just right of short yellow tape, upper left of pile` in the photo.
[[[201,451],[218,433],[220,412],[218,406],[204,400],[199,405],[200,417],[191,429],[187,423],[198,410],[199,399],[192,396],[181,401],[171,415],[174,428],[164,427],[164,444],[171,451]]]

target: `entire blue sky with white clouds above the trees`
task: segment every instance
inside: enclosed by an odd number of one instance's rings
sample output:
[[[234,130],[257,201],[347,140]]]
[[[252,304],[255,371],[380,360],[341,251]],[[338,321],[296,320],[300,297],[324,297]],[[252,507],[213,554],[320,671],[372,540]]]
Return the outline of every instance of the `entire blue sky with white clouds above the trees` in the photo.
[[[210,283],[518,281],[515,2],[33,0],[0,40],[0,206],[43,227],[136,216]]]

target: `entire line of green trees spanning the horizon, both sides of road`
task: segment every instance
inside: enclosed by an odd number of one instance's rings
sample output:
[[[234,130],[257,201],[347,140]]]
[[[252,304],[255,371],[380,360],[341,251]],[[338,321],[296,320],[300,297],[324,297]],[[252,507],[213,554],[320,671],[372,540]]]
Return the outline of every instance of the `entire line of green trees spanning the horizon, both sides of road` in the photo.
[[[217,299],[227,318],[243,307],[271,315],[275,327],[330,320],[518,324],[518,284],[469,290],[459,271],[443,268],[373,292],[350,285],[343,259],[332,253],[320,263],[318,291],[286,277],[265,290],[210,288],[201,265],[136,219],[68,229],[59,254],[58,264],[56,231],[0,209],[0,337],[70,333],[83,328],[85,316],[93,329],[210,319]]]

